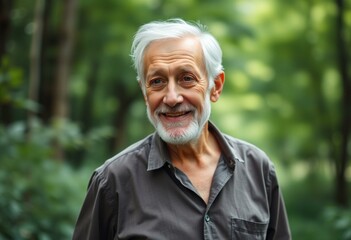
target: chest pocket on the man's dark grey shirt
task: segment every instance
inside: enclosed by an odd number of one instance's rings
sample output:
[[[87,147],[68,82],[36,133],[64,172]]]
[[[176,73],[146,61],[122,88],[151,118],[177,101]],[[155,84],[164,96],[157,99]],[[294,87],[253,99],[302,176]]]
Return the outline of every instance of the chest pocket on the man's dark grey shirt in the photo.
[[[266,239],[267,223],[249,222],[232,218],[232,238],[240,240]]]

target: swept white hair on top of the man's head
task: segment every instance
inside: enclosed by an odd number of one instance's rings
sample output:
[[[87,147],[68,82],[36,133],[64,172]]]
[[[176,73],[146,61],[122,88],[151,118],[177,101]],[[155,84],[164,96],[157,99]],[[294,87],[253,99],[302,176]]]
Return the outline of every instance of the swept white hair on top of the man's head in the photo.
[[[134,36],[131,48],[131,57],[137,72],[137,80],[144,88],[144,53],[149,44],[156,40],[197,37],[200,41],[204,63],[206,66],[209,88],[214,85],[214,79],[223,70],[222,50],[217,40],[200,23],[189,23],[182,19],[169,19],[167,21],[154,21],[142,25]]]

